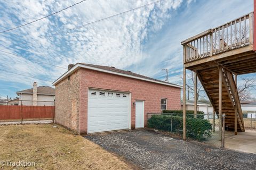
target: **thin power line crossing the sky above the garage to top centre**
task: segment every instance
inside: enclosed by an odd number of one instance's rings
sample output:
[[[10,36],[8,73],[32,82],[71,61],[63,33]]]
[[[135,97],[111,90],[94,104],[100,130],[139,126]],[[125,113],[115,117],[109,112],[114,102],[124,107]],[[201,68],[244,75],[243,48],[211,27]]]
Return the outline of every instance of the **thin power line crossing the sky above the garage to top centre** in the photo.
[[[94,23],[97,23],[97,22],[101,22],[101,21],[104,21],[104,20],[113,18],[113,17],[115,17],[115,16],[125,14],[125,13],[127,13],[127,12],[135,11],[135,10],[138,10],[138,9],[140,9],[140,8],[147,7],[147,6],[149,6],[149,5],[157,4],[157,3],[162,2],[162,1],[165,1],[165,0],[159,0],[159,1],[155,1],[155,2],[152,2],[152,3],[146,4],[146,5],[142,5],[142,6],[139,6],[139,7],[135,7],[135,8],[133,8],[133,9],[131,9],[131,10],[128,10],[128,11],[124,11],[124,12],[121,12],[121,13],[117,13],[117,14],[108,16],[108,17],[106,17],[106,18],[103,18],[103,19],[100,19],[100,20],[97,20],[97,21],[89,22],[89,23],[86,23],[86,24],[83,24],[83,25],[79,25],[79,26],[74,27],[74,28],[70,28],[70,29],[61,31],[61,33],[62,33],[62,32],[65,33],[65,32],[70,31],[70,30],[82,28],[82,27],[85,27],[85,26],[88,26],[88,25],[91,25],[91,24],[94,24]],[[0,32],[0,33],[1,33],[1,32]],[[51,36],[47,36],[47,37],[52,37],[52,36],[57,35],[57,34],[59,34],[59,33],[60,33],[60,32],[56,32],[56,33],[53,33]]]

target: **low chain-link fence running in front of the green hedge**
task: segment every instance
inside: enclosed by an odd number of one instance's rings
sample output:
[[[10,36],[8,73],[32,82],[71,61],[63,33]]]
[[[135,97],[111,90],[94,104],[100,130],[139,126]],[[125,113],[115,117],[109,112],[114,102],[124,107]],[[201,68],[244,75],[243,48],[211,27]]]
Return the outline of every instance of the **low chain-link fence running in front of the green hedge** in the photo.
[[[173,137],[182,139],[183,114],[149,113],[147,118],[149,128],[162,130],[168,132]],[[186,114],[186,139],[221,147],[221,122],[218,115]]]

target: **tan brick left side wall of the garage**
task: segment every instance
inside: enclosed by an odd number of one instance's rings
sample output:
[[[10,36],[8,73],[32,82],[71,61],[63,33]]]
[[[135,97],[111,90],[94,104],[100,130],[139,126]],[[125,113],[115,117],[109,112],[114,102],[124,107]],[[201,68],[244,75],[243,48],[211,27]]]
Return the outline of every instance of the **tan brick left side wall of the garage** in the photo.
[[[74,131],[79,129],[79,76],[77,70],[55,86],[55,122]]]

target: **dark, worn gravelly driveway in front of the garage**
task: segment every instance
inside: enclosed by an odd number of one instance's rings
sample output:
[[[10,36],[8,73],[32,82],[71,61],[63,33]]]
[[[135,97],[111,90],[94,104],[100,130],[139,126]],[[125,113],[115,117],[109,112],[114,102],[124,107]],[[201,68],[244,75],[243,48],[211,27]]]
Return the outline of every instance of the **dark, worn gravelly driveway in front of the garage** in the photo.
[[[256,169],[256,155],[172,139],[147,129],[85,137],[141,169]]]

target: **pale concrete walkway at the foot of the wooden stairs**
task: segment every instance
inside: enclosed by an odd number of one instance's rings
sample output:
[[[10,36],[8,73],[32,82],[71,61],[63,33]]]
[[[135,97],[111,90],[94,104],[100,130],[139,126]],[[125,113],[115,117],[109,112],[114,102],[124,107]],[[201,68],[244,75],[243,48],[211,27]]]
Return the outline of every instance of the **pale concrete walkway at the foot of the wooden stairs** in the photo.
[[[256,154],[256,130],[245,129],[245,132],[225,131],[225,148]]]

